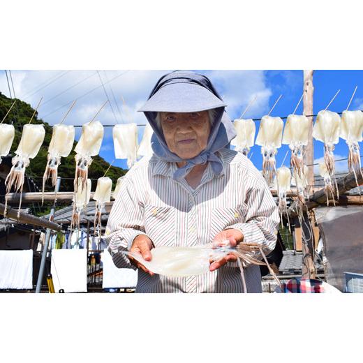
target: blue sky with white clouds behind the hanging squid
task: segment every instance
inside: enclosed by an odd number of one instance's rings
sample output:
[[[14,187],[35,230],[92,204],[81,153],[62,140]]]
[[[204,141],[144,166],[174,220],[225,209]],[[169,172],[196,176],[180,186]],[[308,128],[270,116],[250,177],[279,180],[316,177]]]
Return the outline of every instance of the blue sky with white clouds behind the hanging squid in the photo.
[[[283,95],[272,112],[272,116],[288,116],[302,95],[303,71],[198,71],[210,77],[216,89],[228,104],[231,119],[238,118],[249,101],[258,95],[253,107],[245,114],[245,118],[260,118],[269,112],[280,94]],[[73,100],[79,98],[66,124],[83,124],[89,121],[98,108],[105,102],[106,94],[110,98],[108,105],[99,115],[103,124],[136,122],[145,124],[144,115],[137,112],[146,100],[151,88],[165,71],[11,71],[15,95],[34,108],[39,99],[43,101],[39,115],[44,121],[55,124],[60,121]],[[105,89],[103,89],[103,86]],[[315,71],[313,75],[314,114],[323,110],[338,89],[341,89],[329,110],[341,112],[345,110],[355,85],[358,85],[350,110],[363,108],[363,71]],[[6,74],[1,71],[0,91],[9,96]],[[121,102],[121,96],[126,104]],[[302,113],[302,103],[296,112]],[[256,121],[256,135],[259,121]],[[143,127],[139,127],[139,140]],[[77,128],[76,139],[80,136]],[[283,145],[276,156],[277,166],[281,166],[288,146]],[[251,160],[260,169],[262,156],[260,147],[251,148]],[[250,155],[251,155],[250,153]],[[348,148],[344,140],[336,145],[336,158],[346,157]],[[112,128],[105,128],[105,137],[100,155],[106,161],[114,160]],[[323,144],[314,140],[314,158],[323,157]],[[289,157],[285,165],[288,165]],[[116,160],[113,165],[126,168],[126,161]],[[337,170],[345,171],[347,162],[337,163]]]

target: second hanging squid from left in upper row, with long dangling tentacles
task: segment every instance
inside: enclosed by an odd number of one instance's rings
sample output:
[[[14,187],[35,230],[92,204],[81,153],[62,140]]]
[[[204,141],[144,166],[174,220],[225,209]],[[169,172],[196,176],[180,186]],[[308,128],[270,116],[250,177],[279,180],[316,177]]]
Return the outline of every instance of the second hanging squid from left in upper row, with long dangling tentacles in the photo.
[[[20,207],[22,206],[22,188],[24,185],[25,168],[29,166],[31,158],[35,158],[38,154],[40,146],[43,144],[45,129],[43,125],[26,124],[23,127],[22,138],[20,144],[15,151],[15,156],[11,163],[11,168],[8,177],[6,177],[6,202],[5,213],[8,205],[8,193],[13,185],[15,185],[15,193],[20,190],[20,203],[17,211],[17,218],[20,216]]]

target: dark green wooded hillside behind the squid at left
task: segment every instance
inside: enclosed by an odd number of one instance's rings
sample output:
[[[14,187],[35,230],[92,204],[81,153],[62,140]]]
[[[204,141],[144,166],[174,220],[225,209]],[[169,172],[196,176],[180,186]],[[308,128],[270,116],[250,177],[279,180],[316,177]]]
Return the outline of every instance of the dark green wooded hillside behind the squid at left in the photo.
[[[0,92],[0,121],[5,116],[6,112],[8,112],[10,106],[14,102],[14,99],[8,98],[1,94]],[[19,145],[20,138],[22,136],[22,127],[17,127],[19,125],[28,124],[32,114],[34,113],[34,108],[31,108],[31,105],[28,103],[17,99],[13,109],[10,111],[8,116],[6,117],[4,123],[13,124],[15,126],[15,138],[13,141],[13,145],[10,149],[10,154],[12,156],[15,155],[14,151],[17,149],[17,145]],[[52,138],[52,126],[44,122],[42,119],[38,118],[38,112],[34,115],[31,124],[43,124],[45,127],[45,138],[42,147],[40,147],[40,151],[36,158],[31,159],[30,165],[27,168],[27,175],[29,177],[34,178],[38,188],[41,190],[42,186],[42,178],[45,171],[45,165],[47,164],[47,150],[50,144],[50,140]],[[74,142],[73,149],[77,142]],[[99,177],[103,177],[105,171],[108,169],[110,165],[107,161],[105,161],[101,156],[92,157],[93,161],[89,168],[89,178],[98,179]],[[124,175],[127,170],[122,168],[118,168],[116,166],[112,166],[110,170],[108,170],[107,176],[110,177],[113,181],[113,188],[116,184],[116,180]],[[71,154],[67,158],[61,158],[61,165],[58,168],[58,175],[62,178],[60,191],[73,191],[73,179],[75,176],[75,151],[71,151]],[[92,191],[96,188],[96,180],[92,181]],[[47,185],[45,191],[52,191],[53,188],[50,187],[50,184]],[[46,209],[40,212],[40,209],[34,210],[35,214],[45,214],[47,212]]]

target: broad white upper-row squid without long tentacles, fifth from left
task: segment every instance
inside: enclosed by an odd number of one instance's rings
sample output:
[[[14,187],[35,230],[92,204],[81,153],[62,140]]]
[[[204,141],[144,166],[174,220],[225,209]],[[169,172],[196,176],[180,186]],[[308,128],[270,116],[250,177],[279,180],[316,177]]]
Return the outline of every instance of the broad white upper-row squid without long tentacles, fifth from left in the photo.
[[[138,126],[118,124],[112,129],[115,158],[126,158],[130,169],[136,161],[138,150]]]

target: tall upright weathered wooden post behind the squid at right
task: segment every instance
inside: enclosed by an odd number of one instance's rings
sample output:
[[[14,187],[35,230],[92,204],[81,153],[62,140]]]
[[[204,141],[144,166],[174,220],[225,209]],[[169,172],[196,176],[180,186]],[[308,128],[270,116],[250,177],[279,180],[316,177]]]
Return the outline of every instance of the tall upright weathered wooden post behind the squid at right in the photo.
[[[304,71],[304,114],[306,116],[313,114],[313,71]],[[308,117],[310,121],[309,125],[309,142],[306,147],[304,155],[304,163],[311,165],[308,168],[308,192],[313,193],[314,186],[314,147],[313,147],[313,117]],[[309,228],[309,214],[304,212],[302,216],[302,232],[304,233],[305,239],[302,239],[302,278],[315,279],[316,269],[313,262],[313,232]]]

